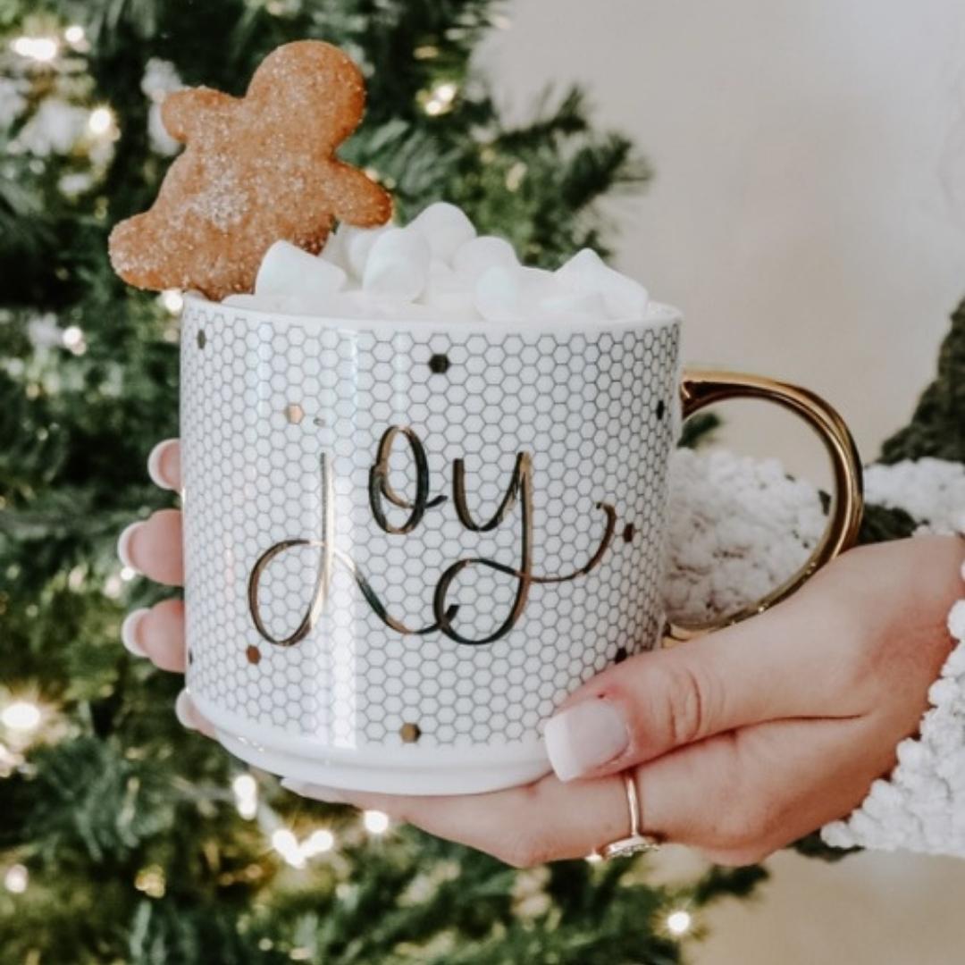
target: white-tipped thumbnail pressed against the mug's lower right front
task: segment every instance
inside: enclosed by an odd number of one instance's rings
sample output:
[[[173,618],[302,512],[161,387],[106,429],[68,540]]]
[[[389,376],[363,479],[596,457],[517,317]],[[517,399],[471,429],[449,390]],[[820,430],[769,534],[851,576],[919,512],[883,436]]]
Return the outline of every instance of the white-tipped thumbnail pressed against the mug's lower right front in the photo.
[[[567,707],[550,718],[543,736],[549,762],[561,781],[572,781],[616,758],[630,742],[620,711],[604,700]]]

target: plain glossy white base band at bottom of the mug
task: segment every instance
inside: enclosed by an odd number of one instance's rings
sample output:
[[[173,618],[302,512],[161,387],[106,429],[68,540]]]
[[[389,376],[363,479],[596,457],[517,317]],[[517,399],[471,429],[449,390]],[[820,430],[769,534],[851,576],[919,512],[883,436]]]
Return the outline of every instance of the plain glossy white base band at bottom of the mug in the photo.
[[[381,794],[483,794],[530,784],[551,770],[542,741],[504,747],[327,748],[252,724],[192,693],[218,742],[236,758],[293,781]]]

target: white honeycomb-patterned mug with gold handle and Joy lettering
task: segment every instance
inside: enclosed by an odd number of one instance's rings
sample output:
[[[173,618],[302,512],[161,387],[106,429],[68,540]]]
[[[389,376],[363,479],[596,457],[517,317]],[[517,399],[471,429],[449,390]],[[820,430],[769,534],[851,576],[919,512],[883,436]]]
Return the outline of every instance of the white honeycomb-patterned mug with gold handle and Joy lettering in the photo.
[[[668,465],[681,419],[713,401],[791,408],[835,468],[824,539],[761,606],[853,541],[860,468],[840,418],[766,379],[681,377],[679,328],[666,306],[510,328],[189,296],[187,686],[221,743],[389,793],[544,774],[554,708],[670,629]]]

